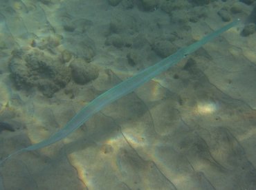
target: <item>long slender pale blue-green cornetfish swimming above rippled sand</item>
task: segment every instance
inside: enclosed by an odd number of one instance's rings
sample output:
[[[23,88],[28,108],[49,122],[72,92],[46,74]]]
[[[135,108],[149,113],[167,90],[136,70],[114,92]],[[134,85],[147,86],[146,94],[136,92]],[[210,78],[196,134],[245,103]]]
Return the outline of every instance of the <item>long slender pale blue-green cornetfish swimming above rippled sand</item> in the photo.
[[[212,39],[216,38],[221,33],[226,32],[226,30],[234,27],[235,25],[237,25],[238,22],[239,19],[233,21],[232,23],[228,23],[227,25],[223,26],[223,28],[220,28],[219,30],[216,30],[203,37],[203,39],[201,39],[200,41],[192,43],[191,45],[188,45],[188,47],[181,48],[174,54],[167,56],[167,58],[156,63],[155,65],[147,67],[147,69],[138,72],[138,74],[132,76],[131,78],[128,78],[126,81],[122,81],[115,87],[107,90],[107,92],[104,92],[93,101],[91,101],[88,105],[84,106],[80,110],[80,112],[73,116],[73,118],[71,118],[71,120],[69,120],[62,129],[53,134],[53,136],[50,136],[49,138],[46,138],[46,140],[38,142],[34,145],[30,145],[29,147],[26,147],[24,149],[15,151],[8,157],[1,160],[0,165],[4,161],[8,160],[11,156],[14,156],[24,151],[34,151],[36,149],[41,149],[59,140],[62,140],[62,138],[65,138],[66,136],[68,136],[68,134],[71,134],[73,131],[78,129],[84,122],[86,122],[86,120],[93,116],[93,114],[99,112],[103,107],[105,107],[109,103],[112,103],[113,101],[116,101],[118,98],[121,98],[122,96],[125,96],[130,92],[133,92],[134,89],[136,89],[140,85],[143,85],[147,81],[150,81],[161,72],[164,72],[168,68],[172,67],[173,65],[181,61],[181,59],[185,58],[185,56],[188,56],[189,54],[192,54],[192,52],[198,50],[199,47],[201,47],[205,43],[212,41]]]

